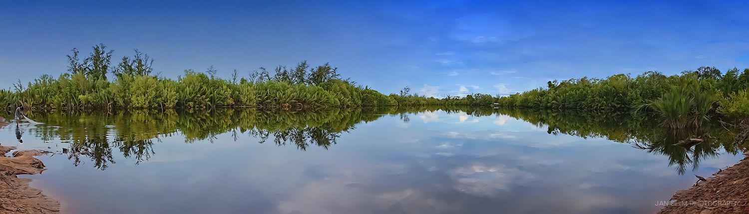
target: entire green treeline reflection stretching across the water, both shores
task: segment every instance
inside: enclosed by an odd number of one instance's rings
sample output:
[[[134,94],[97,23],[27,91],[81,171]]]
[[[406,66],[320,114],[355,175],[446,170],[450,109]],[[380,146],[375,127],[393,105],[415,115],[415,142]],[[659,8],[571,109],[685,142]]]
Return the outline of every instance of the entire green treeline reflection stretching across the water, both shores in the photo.
[[[350,132],[359,123],[377,120],[384,115],[398,115],[404,123],[410,116],[421,114],[426,122],[437,118],[425,115],[444,111],[464,114],[459,120],[471,117],[497,117],[502,125],[512,117],[546,128],[551,135],[574,135],[580,138],[607,138],[631,144],[648,153],[667,156],[669,165],[684,174],[688,168],[697,170],[702,159],[715,158],[721,150],[739,153],[742,146],[733,144],[735,129],[720,123],[707,123],[701,129],[673,131],[662,129],[656,120],[646,115],[591,114],[575,111],[536,111],[524,109],[470,108],[466,106],[417,108],[351,108],[324,111],[259,111],[255,108],[219,109],[217,111],[147,111],[67,112],[32,115],[43,125],[29,127],[34,138],[45,142],[61,141],[69,145],[61,150],[73,165],[82,158],[91,159],[94,167],[105,170],[115,163],[116,150],[135,164],[148,161],[156,154],[153,146],[160,138],[182,136],[184,141],[210,141],[216,135],[231,132],[234,141],[239,135],[249,135],[258,143],[267,141],[279,146],[293,145],[299,150],[321,147],[325,150],[337,144],[343,132]],[[434,114],[436,117],[436,114]],[[475,119],[474,119],[475,120]],[[22,129],[16,127],[20,140]],[[511,136],[500,136],[509,138]],[[694,139],[699,139],[695,141]]]

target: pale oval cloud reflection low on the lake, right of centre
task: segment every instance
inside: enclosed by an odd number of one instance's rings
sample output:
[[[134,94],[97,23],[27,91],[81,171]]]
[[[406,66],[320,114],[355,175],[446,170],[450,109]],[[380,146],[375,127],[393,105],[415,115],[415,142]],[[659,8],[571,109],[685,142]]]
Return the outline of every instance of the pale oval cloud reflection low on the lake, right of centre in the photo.
[[[457,181],[455,189],[478,196],[494,195],[500,190],[508,190],[509,186],[533,178],[530,173],[503,165],[472,165],[455,168],[450,174]]]

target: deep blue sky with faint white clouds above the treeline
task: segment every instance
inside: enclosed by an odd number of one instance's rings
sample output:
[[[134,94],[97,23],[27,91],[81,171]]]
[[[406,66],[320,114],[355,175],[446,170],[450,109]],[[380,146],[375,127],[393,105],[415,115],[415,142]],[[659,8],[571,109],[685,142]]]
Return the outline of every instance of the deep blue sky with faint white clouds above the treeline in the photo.
[[[749,67],[749,1],[8,1],[0,86],[133,49],[162,76],[330,62],[384,94],[512,94],[551,79]]]

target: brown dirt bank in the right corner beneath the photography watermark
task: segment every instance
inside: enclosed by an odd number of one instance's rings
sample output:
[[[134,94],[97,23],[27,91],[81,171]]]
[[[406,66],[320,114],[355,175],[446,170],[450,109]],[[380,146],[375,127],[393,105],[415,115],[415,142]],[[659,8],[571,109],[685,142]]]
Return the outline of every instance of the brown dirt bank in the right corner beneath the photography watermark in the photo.
[[[749,157],[676,192],[660,213],[749,213]]]

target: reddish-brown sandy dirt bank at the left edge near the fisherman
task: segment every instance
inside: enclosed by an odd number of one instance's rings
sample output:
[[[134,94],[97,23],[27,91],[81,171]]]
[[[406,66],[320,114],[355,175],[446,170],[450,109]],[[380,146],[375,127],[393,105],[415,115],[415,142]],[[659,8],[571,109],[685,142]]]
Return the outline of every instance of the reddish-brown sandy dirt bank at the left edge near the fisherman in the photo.
[[[0,117],[0,128],[7,125]],[[44,195],[40,190],[28,186],[29,179],[17,177],[19,174],[40,174],[44,164],[34,158],[46,152],[27,150],[5,153],[16,147],[0,145],[0,213],[59,213],[60,203]]]

